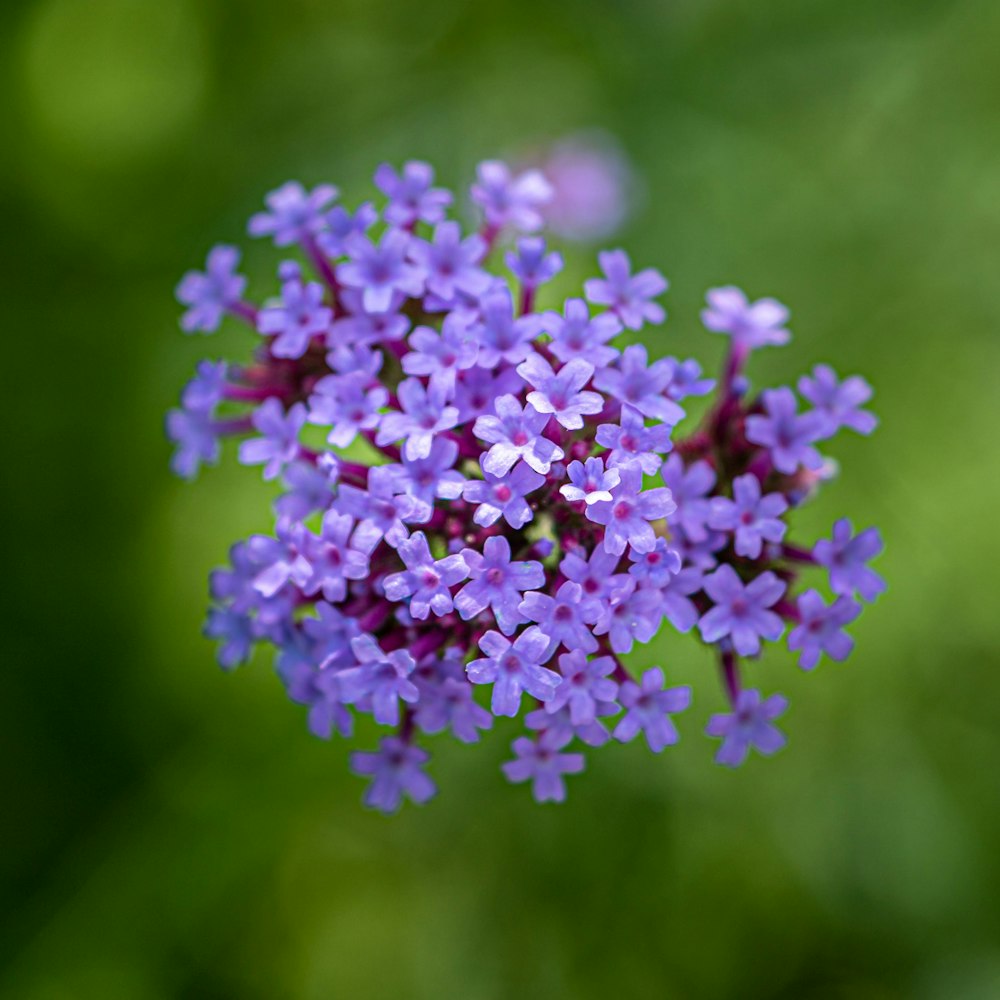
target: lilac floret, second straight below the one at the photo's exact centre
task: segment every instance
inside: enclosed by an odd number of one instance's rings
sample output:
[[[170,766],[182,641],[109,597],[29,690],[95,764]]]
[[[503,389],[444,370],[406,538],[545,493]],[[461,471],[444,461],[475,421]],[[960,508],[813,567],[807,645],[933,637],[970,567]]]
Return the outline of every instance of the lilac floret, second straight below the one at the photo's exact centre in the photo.
[[[487,632],[479,640],[486,654],[473,660],[465,669],[473,684],[492,684],[491,707],[494,715],[517,715],[521,707],[521,692],[547,701],[559,686],[559,675],[543,667],[548,659],[548,639],[532,626],[525,629],[512,643],[499,632]]]

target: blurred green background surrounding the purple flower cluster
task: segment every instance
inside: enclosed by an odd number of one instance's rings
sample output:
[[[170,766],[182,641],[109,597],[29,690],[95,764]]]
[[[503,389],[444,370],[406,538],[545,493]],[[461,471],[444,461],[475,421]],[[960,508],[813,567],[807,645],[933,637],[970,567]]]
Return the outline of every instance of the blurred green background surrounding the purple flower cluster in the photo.
[[[0,994],[1000,996],[998,49],[995,0],[4,4]],[[753,666],[792,702],[773,760],[712,764],[713,665],[668,636],[631,665],[695,684],[677,748],[590,753],[540,807],[512,726],[437,740],[441,794],[386,820],[266,660],[200,636],[268,494],[231,454],[168,475],[182,381],[247,346],[181,336],[173,287],[289,177],[462,184],[591,127],[643,182],[615,242],[672,281],[655,353],[714,367],[732,281],[793,311],[758,380],[874,384],[796,534],[879,524],[890,591],[847,664]],[[258,290],[276,259],[249,247]]]

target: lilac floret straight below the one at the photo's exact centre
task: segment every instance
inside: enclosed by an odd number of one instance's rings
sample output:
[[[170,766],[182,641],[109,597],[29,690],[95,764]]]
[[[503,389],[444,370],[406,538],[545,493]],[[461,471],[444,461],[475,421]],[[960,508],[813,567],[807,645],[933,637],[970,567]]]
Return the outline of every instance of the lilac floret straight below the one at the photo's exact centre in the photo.
[[[528,619],[521,614],[521,595],[545,585],[545,570],[540,562],[511,562],[510,542],[501,536],[487,538],[483,551],[463,549],[462,558],[471,578],[456,595],[455,609],[465,621],[487,607],[496,616],[504,635],[513,635],[518,625]]]

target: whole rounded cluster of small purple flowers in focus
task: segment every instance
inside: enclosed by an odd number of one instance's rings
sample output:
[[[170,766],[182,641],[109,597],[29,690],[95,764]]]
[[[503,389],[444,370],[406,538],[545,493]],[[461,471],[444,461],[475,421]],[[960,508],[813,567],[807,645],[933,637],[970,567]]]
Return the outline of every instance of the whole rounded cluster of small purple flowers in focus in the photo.
[[[233,317],[257,346],[198,366],[167,421],[175,471],[234,435],[240,462],[283,487],[273,533],[212,576],[223,667],[269,644],[314,734],[350,736],[359,714],[389,727],[352,757],[386,811],[434,794],[424,737],[473,743],[495,716],[524,712],[503,771],[540,801],[564,798],[579,745],[675,743],[690,689],[622,660],[665,622],[715,651],[716,759],[776,751],[785,699],[744,686],[744,661],[783,635],[806,670],[844,659],[845,627],[884,586],[874,529],[787,537],[831,474],[817,445],[874,428],[869,387],[818,366],[798,385],[806,409],[787,387],[751,392],[747,359],[789,339],[788,313],[732,287],[702,314],[729,338],[718,384],[693,360],[651,360],[621,341],[663,322],[667,281],[621,250],[582,296],[540,310],[563,259],[538,235],[552,194],[538,172],[480,165],[472,232],[426,164],[383,165],[375,184],[380,205],[354,211],[329,186],[267,197],[250,234],[289,254],[263,304],[229,246],[177,290],[186,331]],[[680,436],[685,400],[713,393]],[[811,569],[829,598],[799,588]]]

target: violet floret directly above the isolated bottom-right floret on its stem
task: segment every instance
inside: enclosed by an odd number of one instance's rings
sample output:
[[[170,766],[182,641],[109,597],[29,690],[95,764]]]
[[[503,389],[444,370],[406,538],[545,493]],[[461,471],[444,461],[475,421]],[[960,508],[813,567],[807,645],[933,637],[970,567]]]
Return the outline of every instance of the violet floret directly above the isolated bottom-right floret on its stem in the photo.
[[[706,576],[703,586],[715,603],[698,622],[705,642],[729,636],[740,656],[755,656],[762,637],[774,640],[785,630],[781,618],[767,610],[785,592],[785,584],[772,572],[744,584],[727,563]]]

